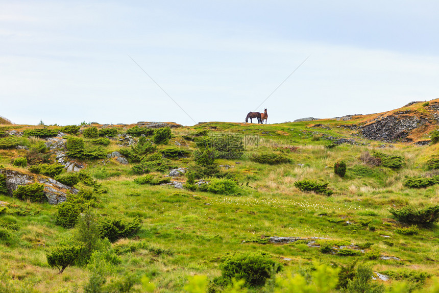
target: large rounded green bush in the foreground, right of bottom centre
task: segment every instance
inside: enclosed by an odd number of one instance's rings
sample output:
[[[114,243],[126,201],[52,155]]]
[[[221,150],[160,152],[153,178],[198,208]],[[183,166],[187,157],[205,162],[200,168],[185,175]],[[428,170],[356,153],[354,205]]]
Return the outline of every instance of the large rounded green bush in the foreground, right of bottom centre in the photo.
[[[260,287],[277,273],[281,266],[262,252],[235,253],[227,256],[220,264],[221,277],[216,278],[216,283],[230,284],[232,279],[245,280],[246,287]]]

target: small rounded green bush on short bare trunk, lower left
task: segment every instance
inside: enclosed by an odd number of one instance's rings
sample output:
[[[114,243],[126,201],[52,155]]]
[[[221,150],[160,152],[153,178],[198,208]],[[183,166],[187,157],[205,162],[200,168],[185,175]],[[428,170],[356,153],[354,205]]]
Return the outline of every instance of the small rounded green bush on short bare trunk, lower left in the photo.
[[[62,274],[65,268],[74,264],[81,253],[82,245],[63,244],[51,249],[46,254],[47,263],[51,267],[56,267]]]

